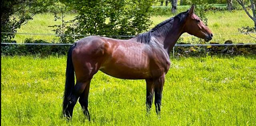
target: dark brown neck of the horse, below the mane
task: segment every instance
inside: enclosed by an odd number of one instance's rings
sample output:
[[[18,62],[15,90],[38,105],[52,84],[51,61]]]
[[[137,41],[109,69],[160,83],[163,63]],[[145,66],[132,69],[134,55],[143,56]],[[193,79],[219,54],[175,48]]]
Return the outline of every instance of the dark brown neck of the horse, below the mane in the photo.
[[[183,23],[179,23],[179,19],[173,19],[152,32],[152,35],[154,35],[158,42],[164,46],[168,54],[170,54],[170,50],[183,33],[183,26]]]

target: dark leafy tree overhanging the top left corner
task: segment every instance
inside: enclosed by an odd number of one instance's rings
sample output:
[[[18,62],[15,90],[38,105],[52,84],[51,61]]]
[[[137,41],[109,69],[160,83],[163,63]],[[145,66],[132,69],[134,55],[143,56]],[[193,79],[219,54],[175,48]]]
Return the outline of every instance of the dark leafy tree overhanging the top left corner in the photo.
[[[36,14],[46,12],[54,0],[2,0],[1,32],[15,33],[20,26]],[[1,34],[2,40],[14,38],[15,34]]]

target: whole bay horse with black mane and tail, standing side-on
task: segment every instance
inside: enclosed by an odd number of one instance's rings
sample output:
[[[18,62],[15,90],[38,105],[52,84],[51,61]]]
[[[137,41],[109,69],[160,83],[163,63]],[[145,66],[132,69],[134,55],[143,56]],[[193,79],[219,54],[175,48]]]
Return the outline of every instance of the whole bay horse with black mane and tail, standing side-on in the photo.
[[[183,33],[210,41],[212,32],[194,14],[194,5],[148,32],[129,40],[90,36],[80,39],[67,54],[66,83],[62,114],[71,119],[79,98],[90,121],[88,95],[90,81],[98,70],[115,78],[146,80],[146,111],[155,94],[156,113],[160,114],[165,74],[170,68],[170,50]],[[74,81],[76,76],[76,85]]]

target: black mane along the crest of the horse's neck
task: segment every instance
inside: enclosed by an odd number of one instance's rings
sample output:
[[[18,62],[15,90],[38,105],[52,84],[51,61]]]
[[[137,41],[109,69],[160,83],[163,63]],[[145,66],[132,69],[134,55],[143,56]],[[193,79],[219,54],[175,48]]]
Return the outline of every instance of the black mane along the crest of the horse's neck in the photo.
[[[141,33],[139,35],[136,35],[135,37],[133,37],[134,39],[136,39],[136,41],[138,41],[139,43],[149,43],[150,39],[151,39],[151,33],[153,31],[156,31],[159,27],[162,27],[163,25],[165,25],[166,23],[169,23],[170,21],[172,21],[174,18],[178,18],[180,23],[183,23],[184,20],[186,19],[186,17],[188,16],[188,12],[189,10],[187,10],[186,12],[181,12],[180,14],[177,14],[174,17],[171,17],[169,19],[166,19],[165,21],[159,23],[158,25],[156,25],[154,28],[152,28],[151,30],[145,32],[145,33]]]

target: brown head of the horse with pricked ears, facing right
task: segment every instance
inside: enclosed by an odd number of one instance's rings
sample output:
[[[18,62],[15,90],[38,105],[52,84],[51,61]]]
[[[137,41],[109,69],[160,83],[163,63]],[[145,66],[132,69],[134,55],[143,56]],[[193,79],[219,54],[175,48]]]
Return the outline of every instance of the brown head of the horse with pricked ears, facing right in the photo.
[[[190,8],[188,17],[185,20],[184,32],[204,39],[206,42],[212,40],[213,37],[210,29],[208,29],[208,27],[204,25],[203,21],[194,14],[194,5]]]

